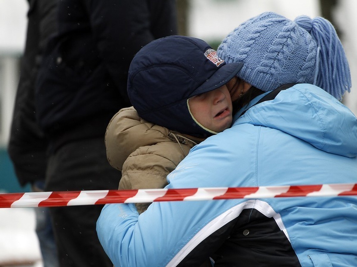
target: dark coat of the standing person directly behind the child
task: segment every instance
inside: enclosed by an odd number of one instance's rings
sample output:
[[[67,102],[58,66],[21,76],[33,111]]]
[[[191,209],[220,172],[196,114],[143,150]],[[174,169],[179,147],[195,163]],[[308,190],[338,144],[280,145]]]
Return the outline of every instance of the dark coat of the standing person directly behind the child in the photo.
[[[104,136],[111,117],[130,106],[127,70],[150,41],[176,34],[174,0],[62,0],[59,33],[36,83],[36,109],[52,148]]]

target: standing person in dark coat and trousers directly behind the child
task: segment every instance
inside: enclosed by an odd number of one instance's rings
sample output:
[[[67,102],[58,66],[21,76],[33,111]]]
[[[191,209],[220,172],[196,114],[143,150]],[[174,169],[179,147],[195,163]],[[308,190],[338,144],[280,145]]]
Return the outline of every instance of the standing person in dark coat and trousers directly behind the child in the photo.
[[[46,191],[117,189],[106,126],[121,108],[131,59],[150,41],[176,34],[174,0],[63,0],[36,82],[36,115],[49,162]],[[60,266],[111,266],[95,232],[102,206],[53,207]]]

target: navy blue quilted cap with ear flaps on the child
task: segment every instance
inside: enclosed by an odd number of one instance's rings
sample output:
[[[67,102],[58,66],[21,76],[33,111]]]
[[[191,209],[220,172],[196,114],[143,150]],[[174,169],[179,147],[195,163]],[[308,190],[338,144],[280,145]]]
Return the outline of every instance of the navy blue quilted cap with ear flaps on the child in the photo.
[[[127,92],[140,117],[189,135],[208,136],[193,120],[187,99],[231,80],[242,63],[226,64],[205,41],[186,36],[154,40],[129,68]]]

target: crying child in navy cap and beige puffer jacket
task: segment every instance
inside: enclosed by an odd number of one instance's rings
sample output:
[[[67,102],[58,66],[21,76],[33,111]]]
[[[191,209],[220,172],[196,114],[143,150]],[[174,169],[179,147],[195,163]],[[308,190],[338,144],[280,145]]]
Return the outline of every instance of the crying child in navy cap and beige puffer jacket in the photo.
[[[165,187],[194,145],[230,127],[228,87],[241,66],[193,37],[164,37],[136,54],[127,88],[134,107],[114,115],[105,137],[107,158],[122,171],[119,189]],[[138,212],[148,205],[136,204]]]

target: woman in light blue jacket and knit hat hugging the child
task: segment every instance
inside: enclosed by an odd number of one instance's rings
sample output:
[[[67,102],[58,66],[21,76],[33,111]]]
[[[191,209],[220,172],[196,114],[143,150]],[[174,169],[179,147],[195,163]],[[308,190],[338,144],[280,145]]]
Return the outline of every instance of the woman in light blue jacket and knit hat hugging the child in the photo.
[[[166,188],[356,182],[357,119],[338,101],[351,78],[330,22],[263,13],[217,52],[243,63],[232,91],[240,110],[230,129],[192,148]],[[354,266],[357,198],[156,202],[140,216],[133,204],[110,204],[97,233],[116,267],[197,266],[208,256],[214,266]]]

